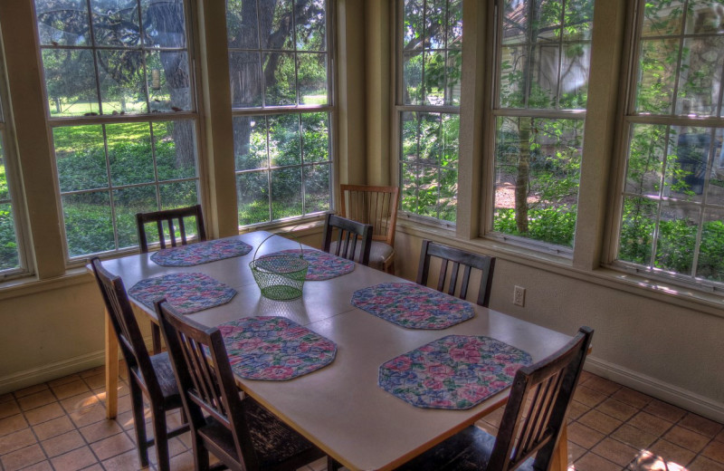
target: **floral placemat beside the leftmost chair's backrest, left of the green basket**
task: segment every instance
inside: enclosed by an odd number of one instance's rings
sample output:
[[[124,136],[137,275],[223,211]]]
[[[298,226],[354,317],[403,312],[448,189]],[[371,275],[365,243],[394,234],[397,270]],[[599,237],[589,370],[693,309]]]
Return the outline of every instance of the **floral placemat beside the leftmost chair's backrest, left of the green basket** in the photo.
[[[166,298],[182,314],[190,314],[228,303],[236,292],[206,274],[164,274],[141,280],[129,294],[153,310],[153,303]]]

